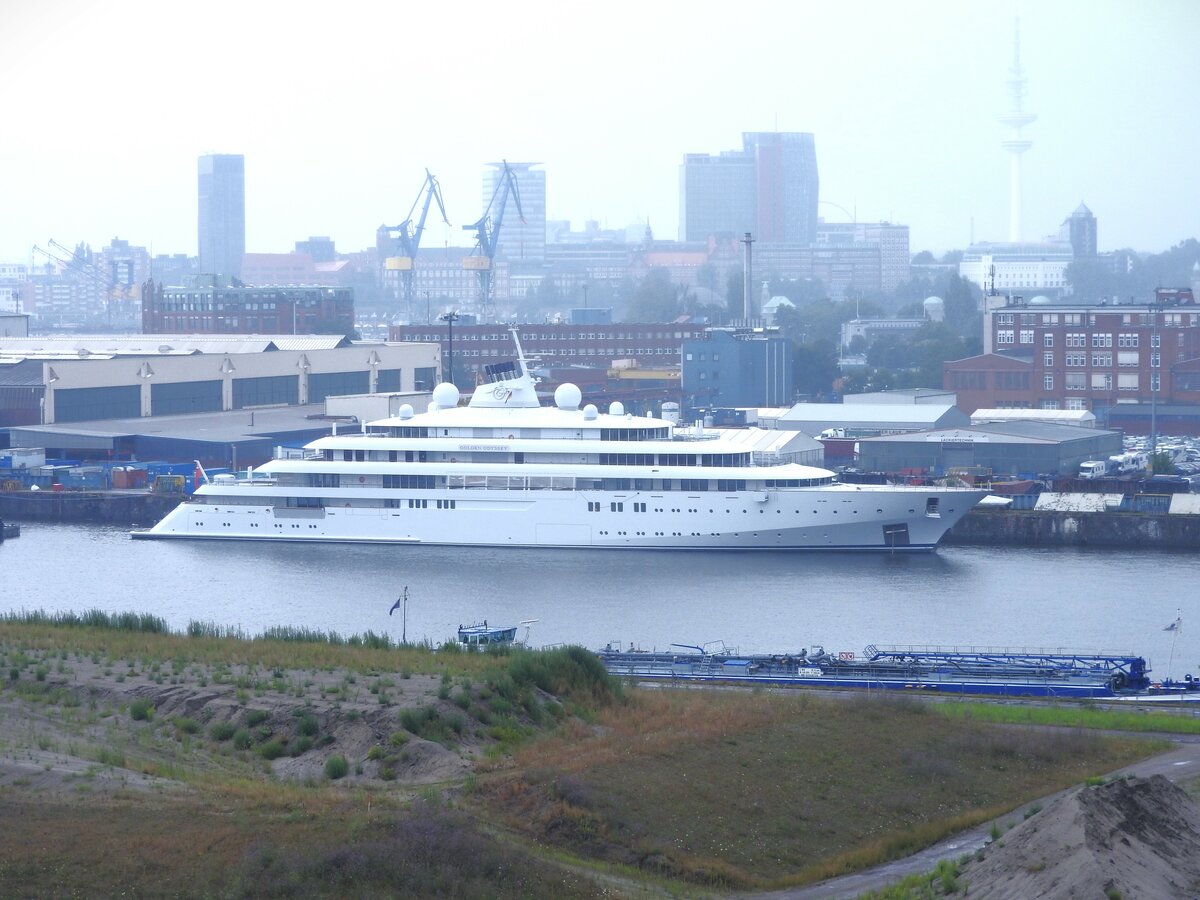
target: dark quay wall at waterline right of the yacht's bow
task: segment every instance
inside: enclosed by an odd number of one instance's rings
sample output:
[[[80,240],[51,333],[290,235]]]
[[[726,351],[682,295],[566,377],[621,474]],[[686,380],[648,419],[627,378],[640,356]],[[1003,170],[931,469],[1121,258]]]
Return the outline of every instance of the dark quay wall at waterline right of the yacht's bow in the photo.
[[[1200,516],[1153,512],[972,510],[943,544],[1200,550]]]

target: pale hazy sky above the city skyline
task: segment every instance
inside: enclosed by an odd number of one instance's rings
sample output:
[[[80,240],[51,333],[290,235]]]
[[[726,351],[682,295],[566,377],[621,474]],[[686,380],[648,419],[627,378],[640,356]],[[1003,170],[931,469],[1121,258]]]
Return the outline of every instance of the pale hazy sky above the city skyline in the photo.
[[[468,245],[502,157],[545,163],[551,218],[677,238],[683,154],[776,128],[816,136],[822,199],[914,252],[1006,240],[1014,16],[1025,238],[1080,200],[1102,250],[1200,236],[1196,0],[0,0],[0,262],[194,254],[205,152],[246,156],[248,251],[366,247],[426,167],[452,223],[426,245]]]

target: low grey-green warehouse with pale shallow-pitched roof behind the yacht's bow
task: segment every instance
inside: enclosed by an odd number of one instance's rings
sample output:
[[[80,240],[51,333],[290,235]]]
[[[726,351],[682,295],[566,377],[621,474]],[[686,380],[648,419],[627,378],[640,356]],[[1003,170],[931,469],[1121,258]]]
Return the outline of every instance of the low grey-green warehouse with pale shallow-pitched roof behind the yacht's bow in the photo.
[[[934,475],[950,469],[978,475],[1074,474],[1086,460],[1120,452],[1121,432],[1022,420],[862,438],[858,468]]]

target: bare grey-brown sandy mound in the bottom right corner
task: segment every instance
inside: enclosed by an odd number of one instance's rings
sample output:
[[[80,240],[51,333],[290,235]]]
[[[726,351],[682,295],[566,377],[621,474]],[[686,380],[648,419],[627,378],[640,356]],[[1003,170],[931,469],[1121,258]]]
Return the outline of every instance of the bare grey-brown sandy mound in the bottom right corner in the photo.
[[[962,870],[972,898],[1195,898],[1200,808],[1162,775],[1084,787]]]

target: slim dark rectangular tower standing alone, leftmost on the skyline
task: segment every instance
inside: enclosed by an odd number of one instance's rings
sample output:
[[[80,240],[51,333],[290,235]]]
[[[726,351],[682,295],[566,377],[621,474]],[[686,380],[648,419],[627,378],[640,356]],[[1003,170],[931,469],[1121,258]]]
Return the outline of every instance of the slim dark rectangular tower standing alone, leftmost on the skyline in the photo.
[[[246,167],[240,154],[209,154],[199,160],[200,271],[241,271],[246,253]]]

